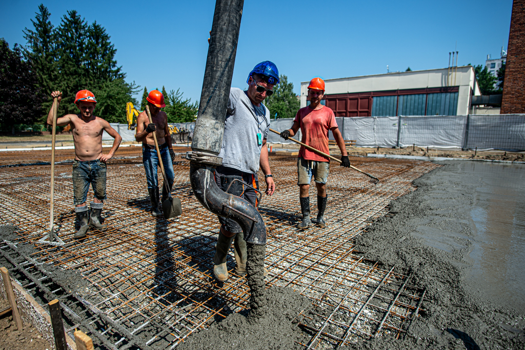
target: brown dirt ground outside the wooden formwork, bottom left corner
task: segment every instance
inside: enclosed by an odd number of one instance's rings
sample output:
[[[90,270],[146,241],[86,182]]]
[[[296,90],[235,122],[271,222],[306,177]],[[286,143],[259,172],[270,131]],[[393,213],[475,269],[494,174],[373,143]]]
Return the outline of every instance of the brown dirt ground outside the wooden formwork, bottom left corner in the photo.
[[[9,306],[7,300],[0,298],[0,310]],[[13,316],[8,313],[0,317],[0,350],[48,350],[49,344],[35,327],[24,323],[18,331]]]

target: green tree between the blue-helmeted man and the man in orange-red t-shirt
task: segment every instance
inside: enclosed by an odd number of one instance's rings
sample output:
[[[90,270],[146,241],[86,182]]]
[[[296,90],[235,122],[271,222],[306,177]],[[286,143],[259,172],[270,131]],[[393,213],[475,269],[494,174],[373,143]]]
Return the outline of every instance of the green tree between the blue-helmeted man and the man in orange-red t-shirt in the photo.
[[[294,118],[300,107],[299,99],[293,92],[293,84],[288,83],[286,75],[279,76],[279,84],[274,87],[274,94],[266,98],[266,107],[270,110],[270,117]]]

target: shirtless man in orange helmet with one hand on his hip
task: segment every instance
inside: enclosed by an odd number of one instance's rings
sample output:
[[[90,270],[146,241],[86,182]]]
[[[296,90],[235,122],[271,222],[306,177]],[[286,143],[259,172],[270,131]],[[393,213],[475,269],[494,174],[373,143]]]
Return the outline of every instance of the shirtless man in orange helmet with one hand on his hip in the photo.
[[[62,100],[62,92],[53,91],[51,97]],[[75,212],[80,228],[75,238],[84,238],[89,228],[103,230],[106,225],[100,223],[103,200],[106,195],[106,162],[110,160],[119,148],[122,137],[113,129],[109,122],[93,115],[97,100],[89,90],[80,90],[75,96],[75,104],[80,114],[67,114],[57,118],[58,126],[71,126],[75,143],[75,161],[73,163],[73,192]],[[49,110],[47,123],[53,125],[53,108]],[[114,138],[113,146],[108,153],[102,153],[102,132],[106,131]],[[90,203],[91,214],[88,215],[87,194],[89,184],[95,192]],[[88,220],[89,217],[89,220]]]

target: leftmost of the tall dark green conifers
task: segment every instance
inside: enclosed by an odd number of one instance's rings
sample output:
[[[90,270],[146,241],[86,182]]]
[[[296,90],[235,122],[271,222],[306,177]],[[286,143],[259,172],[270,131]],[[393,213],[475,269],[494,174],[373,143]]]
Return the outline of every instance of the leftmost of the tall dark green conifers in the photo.
[[[27,45],[23,48],[24,58],[30,62],[37,78],[37,85],[44,94],[49,95],[53,91],[57,79],[57,62],[55,60],[56,44],[54,37],[54,26],[51,24],[47,7],[43,4],[38,6],[35,20],[31,23],[35,30],[24,29],[24,38]],[[45,101],[39,113],[40,119],[47,118],[47,112],[51,107],[51,99]]]

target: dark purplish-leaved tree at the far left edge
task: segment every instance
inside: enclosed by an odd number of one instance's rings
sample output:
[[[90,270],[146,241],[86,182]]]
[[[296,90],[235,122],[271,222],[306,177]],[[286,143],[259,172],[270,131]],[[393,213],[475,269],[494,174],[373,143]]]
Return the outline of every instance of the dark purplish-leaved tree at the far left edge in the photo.
[[[0,125],[13,133],[14,125],[33,123],[40,114],[43,97],[32,68],[17,45],[11,50],[0,39]]]

